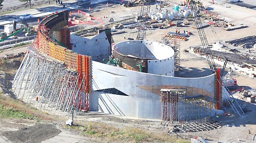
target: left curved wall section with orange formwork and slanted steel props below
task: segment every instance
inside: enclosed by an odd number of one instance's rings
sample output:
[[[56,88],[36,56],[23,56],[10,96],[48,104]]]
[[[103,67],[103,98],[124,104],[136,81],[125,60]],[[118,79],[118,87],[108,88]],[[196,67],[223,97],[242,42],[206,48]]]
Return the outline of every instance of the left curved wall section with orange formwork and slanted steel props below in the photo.
[[[14,93],[36,108],[57,114],[89,111],[91,57],[74,53],[68,12],[54,13],[38,25],[37,36],[14,78]],[[33,85],[33,86],[32,86]]]

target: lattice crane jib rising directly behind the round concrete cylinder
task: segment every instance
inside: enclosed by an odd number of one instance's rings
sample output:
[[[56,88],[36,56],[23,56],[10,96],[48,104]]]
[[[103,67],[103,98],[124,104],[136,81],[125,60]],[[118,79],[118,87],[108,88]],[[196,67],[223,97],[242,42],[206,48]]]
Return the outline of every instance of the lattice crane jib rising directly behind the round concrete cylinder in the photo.
[[[147,21],[149,19],[149,11],[150,11],[151,0],[146,0],[142,3],[141,12],[138,16],[138,35],[136,40],[144,40],[146,38],[146,31],[148,28]]]

